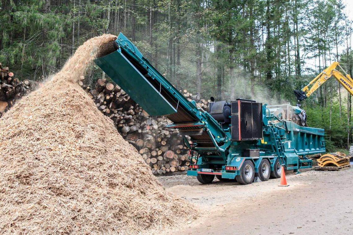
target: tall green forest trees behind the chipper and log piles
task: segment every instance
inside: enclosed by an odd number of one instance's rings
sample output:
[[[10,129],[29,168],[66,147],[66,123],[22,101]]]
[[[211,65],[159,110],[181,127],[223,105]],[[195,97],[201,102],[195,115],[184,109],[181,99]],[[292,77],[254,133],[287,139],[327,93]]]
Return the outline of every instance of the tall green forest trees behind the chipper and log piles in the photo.
[[[295,105],[293,89],[333,61],[352,74],[351,18],[342,0],[1,0],[0,62],[42,80],[87,39],[122,32],[178,89]],[[102,76],[92,67],[86,82]],[[352,143],[351,95],[335,79],[301,103],[329,151]]]

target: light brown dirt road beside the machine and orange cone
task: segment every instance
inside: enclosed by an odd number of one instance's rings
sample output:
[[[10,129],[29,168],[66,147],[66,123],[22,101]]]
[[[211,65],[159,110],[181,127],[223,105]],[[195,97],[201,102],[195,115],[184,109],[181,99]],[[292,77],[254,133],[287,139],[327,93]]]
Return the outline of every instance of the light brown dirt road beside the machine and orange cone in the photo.
[[[279,179],[202,185],[186,175],[160,177],[169,191],[204,211],[173,235],[353,234],[353,169],[286,176],[289,187],[278,187]]]

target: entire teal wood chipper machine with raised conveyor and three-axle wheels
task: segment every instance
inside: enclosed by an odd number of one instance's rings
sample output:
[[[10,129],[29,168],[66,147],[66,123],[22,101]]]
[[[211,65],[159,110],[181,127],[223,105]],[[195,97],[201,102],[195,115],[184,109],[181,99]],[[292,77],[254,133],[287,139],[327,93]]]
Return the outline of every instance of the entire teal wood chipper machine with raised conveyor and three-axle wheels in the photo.
[[[323,129],[281,119],[266,104],[213,99],[209,112],[204,111],[185,99],[122,33],[95,62],[149,115],[167,115],[173,122],[168,127],[177,128],[190,149],[187,174],[203,184],[215,176],[240,184],[252,183],[255,176],[262,181],[279,178],[281,166],[297,172],[311,167],[306,155],[325,152]]]

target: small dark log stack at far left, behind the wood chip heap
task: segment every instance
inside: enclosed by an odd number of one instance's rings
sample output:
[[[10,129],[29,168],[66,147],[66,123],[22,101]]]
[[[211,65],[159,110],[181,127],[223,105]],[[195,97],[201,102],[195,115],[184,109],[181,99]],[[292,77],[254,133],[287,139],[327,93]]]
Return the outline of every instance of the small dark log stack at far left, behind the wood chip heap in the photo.
[[[32,80],[20,81],[8,67],[0,63],[0,117],[12,107],[16,100],[33,91],[38,83]]]

